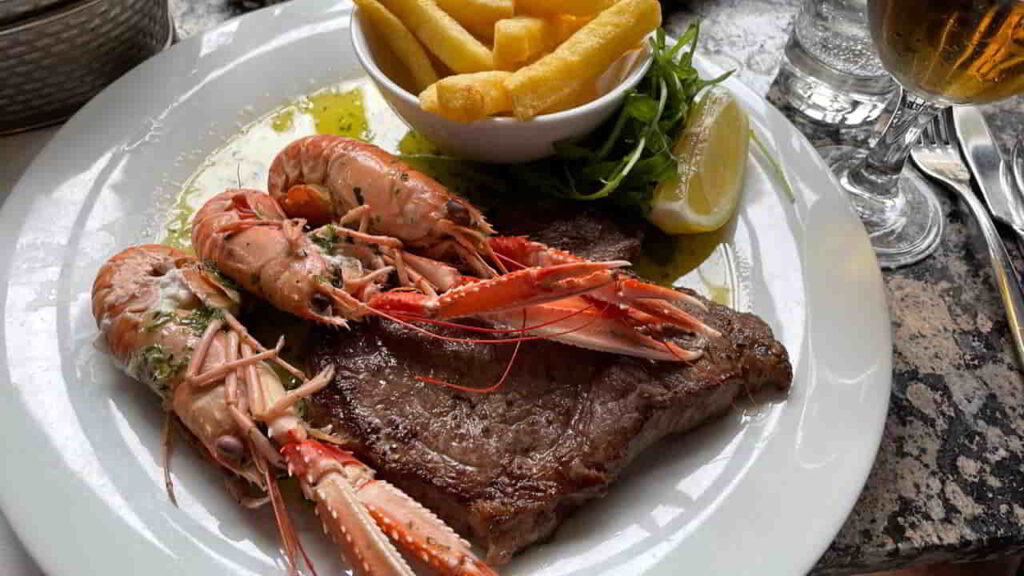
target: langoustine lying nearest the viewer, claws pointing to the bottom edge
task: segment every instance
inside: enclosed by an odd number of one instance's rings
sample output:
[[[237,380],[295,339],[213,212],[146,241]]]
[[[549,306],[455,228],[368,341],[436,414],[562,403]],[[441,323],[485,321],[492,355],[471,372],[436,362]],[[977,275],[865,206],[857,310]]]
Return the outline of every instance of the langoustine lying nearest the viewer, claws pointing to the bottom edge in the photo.
[[[249,335],[237,304],[238,294],[198,260],[160,245],[113,256],[92,290],[93,315],[119,364],[164,400],[214,461],[266,492],[293,573],[304,552],[278,490],[279,469],[297,476],[356,574],[413,575],[386,533],[442,574],[494,575],[432,512],[310,436],[295,404],[332,371],[306,379],[278,356],[282,342],[265,348]],[[286,390],[268,363],[301,384]]]

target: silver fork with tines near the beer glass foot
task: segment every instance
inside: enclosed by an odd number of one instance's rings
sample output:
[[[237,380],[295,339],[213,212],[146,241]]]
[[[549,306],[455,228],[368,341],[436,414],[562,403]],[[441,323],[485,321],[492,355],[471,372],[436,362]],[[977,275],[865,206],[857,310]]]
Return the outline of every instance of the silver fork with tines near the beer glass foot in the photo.
[[[1002,245],[992,218],[971,189],[971,172],[964,163],[956,142],[950,138],[951,133],[947,115],[939,114],[925,128],[921,142],[910,152],[910,158],[922,172],[956,193],[978,220],[988,247],[995,284],[1007,311],[1010,333],[1013,334],[1018,358],[1024,361],[1024,332],[1021,330],[1021,322],[1024,321],[1024,293],[1021,292],[1017,275],[1010,263],[1010,255],[1007,254],[1007,248]]]

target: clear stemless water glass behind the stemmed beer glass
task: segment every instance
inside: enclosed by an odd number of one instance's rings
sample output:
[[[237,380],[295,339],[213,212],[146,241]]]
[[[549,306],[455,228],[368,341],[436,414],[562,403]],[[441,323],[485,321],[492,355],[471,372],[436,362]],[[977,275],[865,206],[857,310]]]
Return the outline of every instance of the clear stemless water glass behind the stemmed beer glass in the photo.
[[[776,86],[816,122],[870,122],[896,83],[882,68],[867,32],[867,0],[806,0],[785,45]]]

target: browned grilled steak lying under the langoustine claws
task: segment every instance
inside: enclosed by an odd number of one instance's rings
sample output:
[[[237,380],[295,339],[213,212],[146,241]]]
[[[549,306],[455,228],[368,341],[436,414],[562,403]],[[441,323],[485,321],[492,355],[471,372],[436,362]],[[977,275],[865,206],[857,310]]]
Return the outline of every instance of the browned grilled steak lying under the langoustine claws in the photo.
[[[586,255],[624,257],[639,245],[600,221],[588,225],[598,232]],[[416,377],[487,386],[505,370],[511,344],[446,342],[373,319],[350,331],[323,329],[310,365],[333,364],[337,372],[311,400],[309,416],[333,424],[380,478],[482,545],[488,563],[502,564],[602,495],[655,440],[724,414],[739,395],[790,385],[785,349],[764,322],[708,305],[689,312],[723,337],[708,340],[692,365],[528,341],[494,394]]]

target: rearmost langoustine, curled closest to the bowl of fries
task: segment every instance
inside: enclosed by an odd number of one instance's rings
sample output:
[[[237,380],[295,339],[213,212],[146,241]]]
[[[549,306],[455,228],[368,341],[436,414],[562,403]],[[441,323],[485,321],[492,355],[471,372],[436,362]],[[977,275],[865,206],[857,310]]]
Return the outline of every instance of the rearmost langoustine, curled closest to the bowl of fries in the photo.
[[[450,263],[458,258],[479,278],[584,261],[526,238],[495,236],[480,210],[465,199],[380,148],[343,136],[319,134],[288,145],[270,166],[267,190],[289,217],[314,227],[357,222],[358,233],[389,238]],[[608,278],[613,282],[593,287],[588,297],[715,333],[692,316],[655,303],[702,307],[698,299],[626,275]]]

